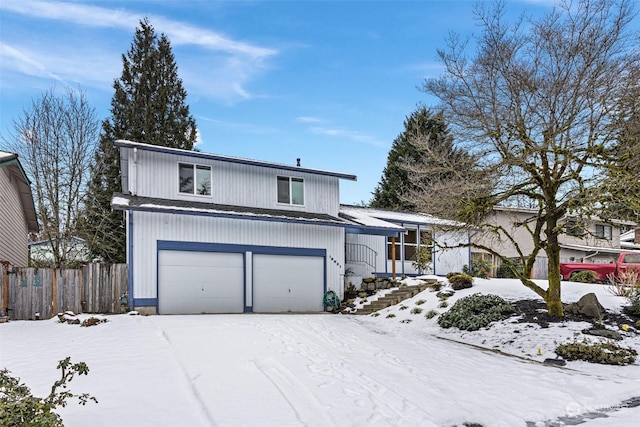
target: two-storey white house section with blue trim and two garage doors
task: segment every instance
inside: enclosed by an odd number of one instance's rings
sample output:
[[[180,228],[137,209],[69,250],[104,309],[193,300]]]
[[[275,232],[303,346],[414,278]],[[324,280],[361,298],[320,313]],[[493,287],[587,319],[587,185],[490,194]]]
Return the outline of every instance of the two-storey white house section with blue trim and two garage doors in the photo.
[[[126,214],[131,308],[322,311],[325,292],[343,295],[348,234],[384,242],[405,232],[391,222],[340,215],[339,181],[354,175],[131,141],[115,145],[123,193],[112,206]]]

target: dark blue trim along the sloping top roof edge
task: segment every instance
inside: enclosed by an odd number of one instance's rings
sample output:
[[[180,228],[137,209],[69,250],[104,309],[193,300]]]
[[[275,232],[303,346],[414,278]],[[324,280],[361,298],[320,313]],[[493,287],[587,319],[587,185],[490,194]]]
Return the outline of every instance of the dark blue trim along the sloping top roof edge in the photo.
[[[349,181],[357,181],[358,179],[355,175],[341,173],[341,172],[331,172],[331,171],[324,171],[319,169],[307,169],[307,168],[302,168],[298,166],[270,163],[270,162],[265,162],[260,160],[241,159],[238,157],[221,156],[218,154],[203,153],[200,151],[181,150],[178,148],[162,147],[158,145],[143,144],[140,142],[133,142],[133,141],[117,140],[114,143],[114,145],[116,147],[138,148],[140,150],[152,151],[156,153],[174,154],[178,156],[187,156],[187,157],[193,157],[197,159],[218,160],[221,162],[237,163],[237,164],[249,165],[249,166],[260,166],[265,168],[280,169],[280,170],[286,170],[291,172],[303,172],[303,173],[311,173],[314,175],[333,176],[336,178],[346,179]]]

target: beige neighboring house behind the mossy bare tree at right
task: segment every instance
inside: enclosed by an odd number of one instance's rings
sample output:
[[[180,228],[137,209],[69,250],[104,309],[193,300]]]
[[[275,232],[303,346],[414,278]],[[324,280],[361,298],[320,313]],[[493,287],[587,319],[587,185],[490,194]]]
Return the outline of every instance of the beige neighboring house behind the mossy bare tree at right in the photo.
[[[487,217],[487,223],[499,225],[505,230],[509,230],[509,234],[513,236],[522,252],[527,255],[533,250],[531,235],[523,226],[514,226],[514,224],[525,223],[535,215],[537,215],[535,209],[496,206]],[[605,222],[598,218],[586,219],[567,216],[561,221],[561,224],[567,228],[567,232],[559,236],[560,262],[610,263],[620,252],[632,249],[625,247],[621,242],[620,230],[621,227],[634,226],[633,222]],[[495,236],[476,233],[471,235],[471,241],[488,246],[507,258],[515,259],[518,257],[513,245],[506,239],[500,240]],[[480,259],[487,261],[494,266],[494,274],[500,265],[499,259],[486,251],[475,248],[472,249],[471,259],[472,261]],[[546,254],[541,251],[536,258],[533,278],[546,279],[548,276],[547,265]]]

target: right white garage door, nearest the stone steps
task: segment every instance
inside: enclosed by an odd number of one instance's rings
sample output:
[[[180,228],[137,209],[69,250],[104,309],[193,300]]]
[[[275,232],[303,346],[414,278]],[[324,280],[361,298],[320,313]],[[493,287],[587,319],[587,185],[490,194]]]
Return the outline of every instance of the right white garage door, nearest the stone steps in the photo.
[[[324,259],[253,255],[253,311],[322,311]]]

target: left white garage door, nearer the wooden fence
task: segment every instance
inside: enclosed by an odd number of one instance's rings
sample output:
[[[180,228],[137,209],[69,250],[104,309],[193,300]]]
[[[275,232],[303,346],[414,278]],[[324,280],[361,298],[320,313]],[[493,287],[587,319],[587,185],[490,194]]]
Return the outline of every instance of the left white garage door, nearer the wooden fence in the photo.
[[[160,314],[242,313],[243,255],[159,251],[158,311]]]

